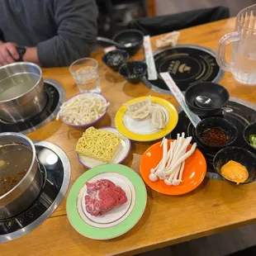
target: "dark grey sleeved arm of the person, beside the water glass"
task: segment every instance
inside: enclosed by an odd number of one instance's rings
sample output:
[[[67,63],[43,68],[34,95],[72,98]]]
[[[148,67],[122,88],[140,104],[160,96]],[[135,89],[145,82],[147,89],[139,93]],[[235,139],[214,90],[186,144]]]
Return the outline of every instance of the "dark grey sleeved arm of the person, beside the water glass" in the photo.
[[[94,0],[55,0],[57,35],[37,45],[37,58],[45,67],[68,66],[88,57],[97,36]]]

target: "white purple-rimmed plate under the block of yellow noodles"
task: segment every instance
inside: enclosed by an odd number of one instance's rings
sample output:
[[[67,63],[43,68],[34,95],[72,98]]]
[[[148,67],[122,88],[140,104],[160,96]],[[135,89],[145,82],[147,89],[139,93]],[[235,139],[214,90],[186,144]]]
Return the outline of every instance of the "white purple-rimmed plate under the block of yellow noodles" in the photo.
[[[130,152],[130,140],[127,139],[125,136],[121,135],[121,133],[118,130],[116,130],[116,128],[104,127],[101,129],[111,131],[111,132],[115,133],[116,135],[121,136],[121,145],[116,150],[116,154],[114,154],[111,161],[109,163],[107,163],[107,164],[121,164],[126,159],[127,155]],[[85,156],[79,155],[79,154],[78,154],[78,160],[79,160],[79,163],[83,164],[83,166],[86,168],[93,168],[100,164],[106,164],[106,163],[103,163],[96,159],[91,159],[91,158],[88,158],[88,157],[85,157]]]

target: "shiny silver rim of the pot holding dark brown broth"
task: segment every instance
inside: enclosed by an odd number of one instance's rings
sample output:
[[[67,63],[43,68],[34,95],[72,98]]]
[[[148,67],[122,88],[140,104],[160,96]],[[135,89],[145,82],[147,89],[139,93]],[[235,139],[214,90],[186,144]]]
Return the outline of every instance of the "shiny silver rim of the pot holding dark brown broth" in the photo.
[[[6,135],[15,135],[15,136],[19,136],[25,140],[27,140],[29,142],[29,144],[31,145],[31,150],[32,150],[32,161],[31,161],[31,165],[30,165],[30,168],[28,168],[25,176],[23,178],[21,178],[20,182],[17,183],[16,186],[12,187],[12,189],[10,191],[8,191],[7,193],[3,194],[2,197],[0,197],[0,200],[9,196],[17,187],[19,187],[19,185],[22,183],[22,181],[24,179],[26,179],[27,176],[29,176],[29,173],[31,172],[31,168],[33,167],[35,161],[37,161],[36,159],[36,148],[35,148],[35,145],[33,144],[32,140],[28,137],[26,137],[26,135],[22,135],[21,133],[17,133],[17,132],[3,132],[0,134],[0,138],[3,137],[3,136],[6,136]],[[15,144],[15,142],[13,143]]]

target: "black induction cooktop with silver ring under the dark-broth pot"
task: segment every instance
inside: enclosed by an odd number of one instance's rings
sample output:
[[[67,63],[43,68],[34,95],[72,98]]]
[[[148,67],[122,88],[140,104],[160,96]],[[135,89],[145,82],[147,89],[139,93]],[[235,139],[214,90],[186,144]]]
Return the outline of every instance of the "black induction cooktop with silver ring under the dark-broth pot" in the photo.
[[[39,197],[25,211],[0,219],[0,243],[17,239],[35,230],[59,206],[69,187],[70,164],[64,151],[47,142],[34,142],[43,187]]]

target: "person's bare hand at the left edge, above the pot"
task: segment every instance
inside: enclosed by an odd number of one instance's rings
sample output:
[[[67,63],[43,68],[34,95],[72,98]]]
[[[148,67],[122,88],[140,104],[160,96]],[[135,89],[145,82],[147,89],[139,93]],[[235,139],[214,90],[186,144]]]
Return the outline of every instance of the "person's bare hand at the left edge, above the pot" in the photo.
[[[3,43],[0,44],[0,65],[11,64],[16,62],[20,58],[17,52],[15,43]]]

